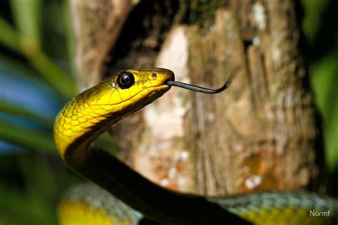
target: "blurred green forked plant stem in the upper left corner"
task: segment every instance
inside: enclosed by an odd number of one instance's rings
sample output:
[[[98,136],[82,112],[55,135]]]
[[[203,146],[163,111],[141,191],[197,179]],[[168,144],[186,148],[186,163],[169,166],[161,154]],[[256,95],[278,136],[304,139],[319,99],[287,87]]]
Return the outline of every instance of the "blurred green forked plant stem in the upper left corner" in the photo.
[[[13,0],[10,2],[14,21],[16,21],[19,31],[11,28],[6,21],[0,20],[0,28],[5,31],[5,35],[0,38],[0,42],[24,54],[31,66],[61,96],[66,99],[73,97],[77,90],[76,80],[41,51],[41,0]]]

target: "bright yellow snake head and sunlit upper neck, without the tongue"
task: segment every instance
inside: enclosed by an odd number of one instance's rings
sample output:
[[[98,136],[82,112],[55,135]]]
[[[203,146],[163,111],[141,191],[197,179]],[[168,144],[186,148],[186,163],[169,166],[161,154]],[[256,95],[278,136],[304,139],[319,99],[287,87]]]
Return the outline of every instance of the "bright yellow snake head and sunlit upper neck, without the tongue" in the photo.
[[[124,70],[83,91],[59,112],[54,139],[61,156],[67,149],[86,147],[124,117],[166,93],[174,73],[163,68]]]

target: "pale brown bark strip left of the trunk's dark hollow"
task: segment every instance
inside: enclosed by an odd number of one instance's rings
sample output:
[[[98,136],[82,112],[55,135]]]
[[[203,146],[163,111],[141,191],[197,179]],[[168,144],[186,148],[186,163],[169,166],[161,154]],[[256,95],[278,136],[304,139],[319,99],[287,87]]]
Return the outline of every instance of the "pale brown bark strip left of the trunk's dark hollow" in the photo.
[[[76,42],[76,72],[81,90],[86,90],[102,80],[107,53],[138,0],[69,2]]]

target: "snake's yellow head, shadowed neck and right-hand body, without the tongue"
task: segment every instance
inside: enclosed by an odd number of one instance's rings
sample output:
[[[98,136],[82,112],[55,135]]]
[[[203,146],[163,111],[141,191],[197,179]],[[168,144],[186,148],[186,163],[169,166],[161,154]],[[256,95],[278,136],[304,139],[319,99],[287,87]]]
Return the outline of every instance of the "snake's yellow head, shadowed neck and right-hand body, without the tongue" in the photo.
[[[109,127],[162,96],[173,80],[173,72],[163,68],[126,70],[77,95],[59,112],[54,125],[62,159],[143,216],[164,224],[277,224],[289,223],[291,217],[325,224],[337,218],[337,200],[317,194],[269,192],[215,199],[173,192],[91,145]],[[331,214],[309,216],[309,210],[331,210]]]

